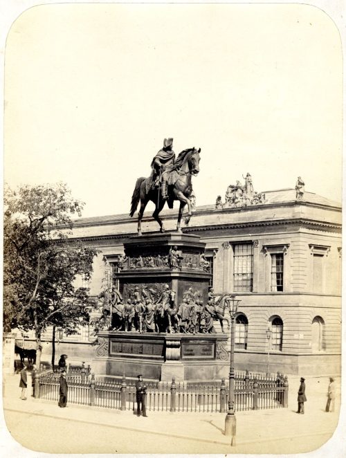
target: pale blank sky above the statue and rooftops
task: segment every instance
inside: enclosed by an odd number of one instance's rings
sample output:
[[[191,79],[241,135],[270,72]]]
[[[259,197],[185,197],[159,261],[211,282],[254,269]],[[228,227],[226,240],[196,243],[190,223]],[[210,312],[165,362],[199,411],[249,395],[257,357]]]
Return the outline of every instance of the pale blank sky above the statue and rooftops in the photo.
[[[4,179],[64,181],[83,217],[127,213],[173,137],[201,147],[197,205],[247,172],[258,192],[302,176],[341,201],[342,89],[338,29],[313,6],[37,6],[6,42]]]

